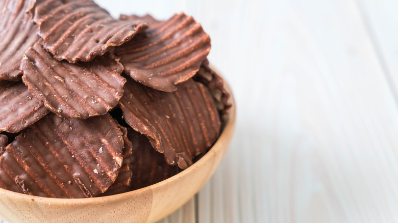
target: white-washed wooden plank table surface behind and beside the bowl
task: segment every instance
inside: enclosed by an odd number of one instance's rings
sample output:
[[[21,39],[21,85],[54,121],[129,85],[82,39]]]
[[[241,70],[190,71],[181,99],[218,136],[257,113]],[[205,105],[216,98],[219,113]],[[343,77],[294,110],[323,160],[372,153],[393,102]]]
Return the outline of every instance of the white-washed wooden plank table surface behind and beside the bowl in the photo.
[[[397,1],[96,2],[194,16],[235,94],[225,159],[161,222],[398,222]]]

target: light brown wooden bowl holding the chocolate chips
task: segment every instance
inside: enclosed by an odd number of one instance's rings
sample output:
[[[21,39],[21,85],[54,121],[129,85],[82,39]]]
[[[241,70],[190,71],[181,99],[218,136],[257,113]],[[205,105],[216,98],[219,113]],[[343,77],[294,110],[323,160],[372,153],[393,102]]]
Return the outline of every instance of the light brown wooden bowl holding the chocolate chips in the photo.
[[[214,146],[183,172],[157,184],[101,198],[55,199],[0,188],[0,219],[11,222],[155,222],[177,210],[210,179],[231,142],[236,108],[232,108]]]

